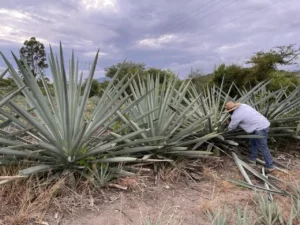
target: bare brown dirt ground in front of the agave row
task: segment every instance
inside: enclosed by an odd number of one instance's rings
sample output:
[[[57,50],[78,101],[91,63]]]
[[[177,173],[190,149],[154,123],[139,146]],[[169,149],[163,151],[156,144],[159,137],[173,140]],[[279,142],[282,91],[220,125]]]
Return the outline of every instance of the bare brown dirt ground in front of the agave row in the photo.
[[[285,160],[293,164],[289,174],[279,172],[276,176],[289,183],[299,182],[300,160]],[[251,218],[257,218],[254,191],[225,180],[225,177],[242,180],[234,162],[225,159],[218,164],[214,169],[204,167],[198,182],[187,179],[157,182],[147,176],[122,179],[118,184],[127,186],[128,190],[103,190],[101,195],[91,198],[92,210],[78,212],[75,216],[56,214],[56,220],[48,217],[48,224],[205,225],[210,224],[205,212],[219,206],[226,207],[229,224],[236,221],[237,207],[244,209],[247,206]],[[291,200],[278,195],[274,195],[274,199],[282,208],[283,215],[288,217]]]

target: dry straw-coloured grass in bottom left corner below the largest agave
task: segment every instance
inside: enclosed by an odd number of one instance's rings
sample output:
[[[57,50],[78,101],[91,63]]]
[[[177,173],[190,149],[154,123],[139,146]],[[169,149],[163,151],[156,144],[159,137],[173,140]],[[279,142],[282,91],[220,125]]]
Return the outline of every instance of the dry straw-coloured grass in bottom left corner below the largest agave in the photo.
[[[1,167],[1,176],[17,174],[19,167]],[[90,209],[96,196],[85,182],[76,184],[76,191],[69,188],[70,175],[29,178],[0,185],[0,224],[42,224],[46,214],[52,213],[57,221],[78,209]]]

